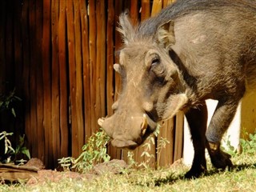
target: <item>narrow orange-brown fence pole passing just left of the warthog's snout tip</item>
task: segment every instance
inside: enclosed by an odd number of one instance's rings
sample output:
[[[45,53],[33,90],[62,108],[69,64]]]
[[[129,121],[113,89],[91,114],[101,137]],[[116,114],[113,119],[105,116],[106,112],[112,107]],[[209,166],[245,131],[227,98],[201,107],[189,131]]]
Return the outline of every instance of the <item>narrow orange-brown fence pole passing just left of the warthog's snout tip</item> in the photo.
[[[95,1],[89,1],[89,50],[90,50],[90,111],[91,111],[91,134],[97,126],[96,119],[96,14]]]

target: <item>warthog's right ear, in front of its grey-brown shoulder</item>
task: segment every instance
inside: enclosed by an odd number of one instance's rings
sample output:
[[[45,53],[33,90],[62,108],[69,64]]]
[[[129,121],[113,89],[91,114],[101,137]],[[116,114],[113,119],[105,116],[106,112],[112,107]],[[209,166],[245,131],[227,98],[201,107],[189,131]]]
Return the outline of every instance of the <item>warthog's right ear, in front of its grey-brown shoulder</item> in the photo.
[[[160,42],[166,49],[169,46],[175,44],[175,36],[174,36],[174,21],[170,20],[158,27],[157,32],[158,42]]]

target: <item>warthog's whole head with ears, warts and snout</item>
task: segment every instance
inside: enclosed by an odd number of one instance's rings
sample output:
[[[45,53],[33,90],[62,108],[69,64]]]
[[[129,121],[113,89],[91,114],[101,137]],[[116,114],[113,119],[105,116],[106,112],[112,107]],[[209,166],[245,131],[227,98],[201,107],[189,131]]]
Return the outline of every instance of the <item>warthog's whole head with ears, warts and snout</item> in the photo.
[[[112,106],[114,114],[98,119],[113,146],[134,149],[154,132],[157,122],[173,117],[186,104],[178,68],[168,54],[173,29],[167,22],[154,35],[142,35],[126,14],[120,16],[118,31],[125,46],[114,70],[121,75],[122,90]]]

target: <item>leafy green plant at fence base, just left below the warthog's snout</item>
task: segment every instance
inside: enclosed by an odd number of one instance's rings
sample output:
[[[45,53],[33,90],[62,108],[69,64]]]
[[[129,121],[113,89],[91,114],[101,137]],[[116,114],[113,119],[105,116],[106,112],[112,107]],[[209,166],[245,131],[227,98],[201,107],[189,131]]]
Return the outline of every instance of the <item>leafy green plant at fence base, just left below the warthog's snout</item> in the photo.
[[[82,154],[77,159],[68,157],[58,159],[64,170],[74,168],[78,172],[88,172],[94,165],[100,162],[110,161],[110,155],[106,153],[106,144],[110,141],[110,137],[105,131],[100,130],[90,136],[86,145],[82,146]]]

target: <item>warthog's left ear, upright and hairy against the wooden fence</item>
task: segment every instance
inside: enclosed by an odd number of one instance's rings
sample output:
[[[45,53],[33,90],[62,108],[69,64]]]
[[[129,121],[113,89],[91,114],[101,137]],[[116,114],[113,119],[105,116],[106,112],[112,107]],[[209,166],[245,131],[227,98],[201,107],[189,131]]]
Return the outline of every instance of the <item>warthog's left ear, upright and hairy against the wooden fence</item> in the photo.
[[[128,11],[119,16],[119,26],[117,30],[122,34],[122,41],[127,45],[134,39],[134,26],[130,22]]]

